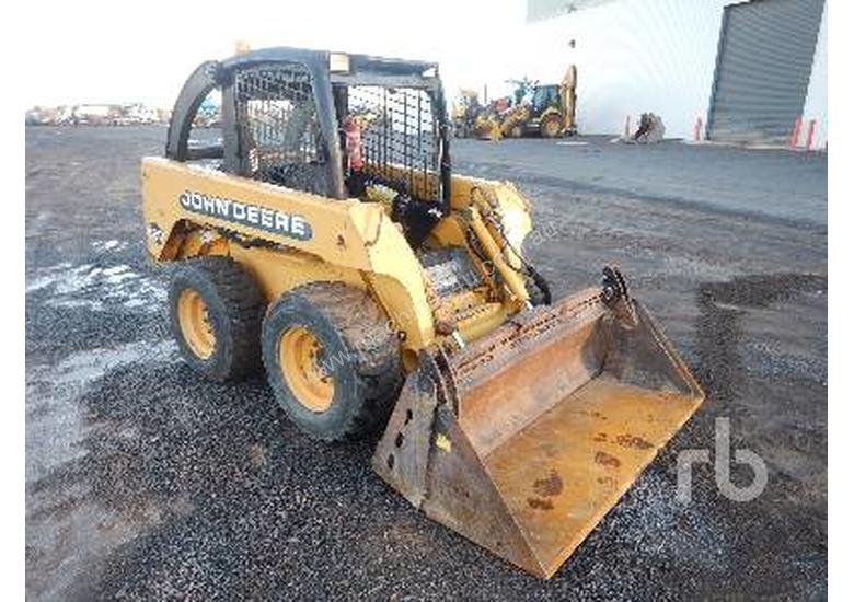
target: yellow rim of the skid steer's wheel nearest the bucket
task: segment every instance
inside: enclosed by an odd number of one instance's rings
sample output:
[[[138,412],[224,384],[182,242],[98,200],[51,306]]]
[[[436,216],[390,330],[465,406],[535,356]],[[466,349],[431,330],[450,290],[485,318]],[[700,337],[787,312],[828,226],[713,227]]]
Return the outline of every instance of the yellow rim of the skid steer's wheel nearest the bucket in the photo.
[[[323,346],[308,329],[297,326],[279,338],[279,369],[297,400],[311,412],[326,412],[335,395],[335,380],[322,366]]]

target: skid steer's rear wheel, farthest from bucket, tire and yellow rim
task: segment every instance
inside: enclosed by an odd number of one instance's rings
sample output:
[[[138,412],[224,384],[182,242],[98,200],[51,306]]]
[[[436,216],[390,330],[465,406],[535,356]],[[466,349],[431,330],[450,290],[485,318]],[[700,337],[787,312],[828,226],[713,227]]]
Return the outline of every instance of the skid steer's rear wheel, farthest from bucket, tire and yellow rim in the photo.
[[[184,360],[214,381],[241,380],[261,367],[264,298],[229,257],[181,264],[169,290],[172,333]]]

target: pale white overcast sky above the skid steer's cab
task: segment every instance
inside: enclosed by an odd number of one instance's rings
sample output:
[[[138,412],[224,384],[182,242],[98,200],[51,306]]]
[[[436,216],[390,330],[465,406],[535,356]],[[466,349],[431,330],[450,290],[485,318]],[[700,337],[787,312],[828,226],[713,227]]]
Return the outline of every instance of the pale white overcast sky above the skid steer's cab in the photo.
[[[170,108],[200,62],[293,46],[436,60],[449,95],[524,74],[524,0],[38,4],[28,105],[145,102]],[[493,90],[489,91],[493,96]]]

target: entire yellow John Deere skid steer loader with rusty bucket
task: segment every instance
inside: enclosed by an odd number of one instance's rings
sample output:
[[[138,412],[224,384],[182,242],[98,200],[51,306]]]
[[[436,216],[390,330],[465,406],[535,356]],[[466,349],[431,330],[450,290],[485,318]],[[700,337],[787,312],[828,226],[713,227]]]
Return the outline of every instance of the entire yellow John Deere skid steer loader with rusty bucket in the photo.
[[[221,136],[193,140],[204,100]],[[379,475],[430,518],[550,577],[703,393],[620,271],[552,300],[531,205],[451,172],[435,63],[270,48],[203,63],[165,157],[142,161],[147,245],[176,262],[185,360],[262,364],[325,440],[384,429]]]

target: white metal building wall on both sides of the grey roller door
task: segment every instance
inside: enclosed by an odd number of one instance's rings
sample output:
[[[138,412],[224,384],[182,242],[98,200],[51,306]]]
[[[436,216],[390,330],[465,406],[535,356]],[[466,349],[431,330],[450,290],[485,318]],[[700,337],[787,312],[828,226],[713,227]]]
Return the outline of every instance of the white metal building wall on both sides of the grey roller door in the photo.
[[[668,138],[690,139],[697,118],[701,131],[706,129],[724,9],[734,3],[613,0],[533,21],[512,45],[519,60],[508,77],[556,81],[574,62],[582,134],[620,134],[626,116],[636,119],[654,111],[663,118]],[[805,124],[817,120],[813,146],[823,143],[827,124],[827,69],[820,67],[827,66],[826,22],[804,108]]]

